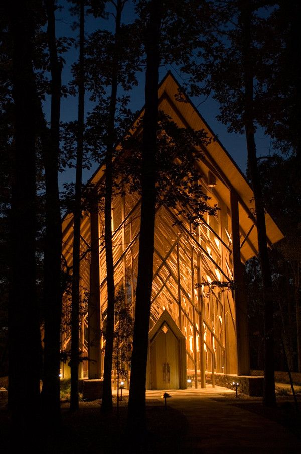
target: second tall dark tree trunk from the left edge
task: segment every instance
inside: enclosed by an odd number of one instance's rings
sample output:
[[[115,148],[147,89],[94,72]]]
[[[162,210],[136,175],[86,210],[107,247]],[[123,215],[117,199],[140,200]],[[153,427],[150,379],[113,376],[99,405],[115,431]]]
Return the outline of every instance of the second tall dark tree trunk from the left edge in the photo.
[[[48,146],[44,149],[46,233],[44,247],[44,374],[43,406],[51,425],[60,422],[61,213],[58,186],[60,153],[61,72],[55,36],[55,2],[46,1],[51,71],[51,118]]]

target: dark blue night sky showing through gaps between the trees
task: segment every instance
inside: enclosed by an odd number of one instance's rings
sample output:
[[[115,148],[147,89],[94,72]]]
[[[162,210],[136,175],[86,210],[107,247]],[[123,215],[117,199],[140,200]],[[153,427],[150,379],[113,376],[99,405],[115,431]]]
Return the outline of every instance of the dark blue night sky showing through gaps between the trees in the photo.
[[[69,14],[69,5],[67,0],[62,0],[60,5],[63,6],[62,10],[57,11],[56,13],[56,32],[57,37],[60,36],[77,36],[77,30],[72,30],[72,23],[74,18]],[[124,11],[123,21],[130,22],[133,18],[133,6],[132,2],[127,3],[127,7]],[[93,32],[97,28],[106,28],[108,30],[112,29],[112,18],[108,20],[105,19],[94,19],[89,15],[86,19],[86,33]],[[70,68],[71,64],[78,58],[78,49],[72,48],[67,54],[64,55],[66,60],[66,65],[63,69],[63,83],[67,84],[70,80]],[[161,67],[160,68],[160,80],[165,76],[166,72],[171,70],[176,77],[176,79],[181,84],[181,77],[177,74],[171,67]],[[139,74],[139,85],[133,89],[131,92],[131,104],[130,107],[133,111],[141,109],[144,105],[144,73]],[[219,140],[222,142],[224,147],[227,149],[229,154],[233,157],[240,169],[245,173],[246,164],[247,164],[247,151],[246,151],[246,141],[245,136],[241,134],[229,133],[227,127],[222,123],[216,120],[216,115],[219,114],[219,106],[212,97],[205,99],[193,98],[192,99],[195,106],[198,107],[201,115],[207,121],[213,132],[218,136]],[[49,100],[44,105],[45,113],[47,118],[49,118],[50,103]],[[85,110],[89,112],[92,110],[92,103],[89,101],[89,95],[86,95]],[[75,120],[77,118],[77,98],[68,97],[62,98],[61,103],[61,120]],[[257,154],[258,156],[268,155],[270,149],[270,138],[266,136],[263,130],[258,130],[256,134],[256,145],[257,145]],[[92,168],[90,171],[85,171],[83,175],[84,181],[86,181],[92,174],[95,168]],[[60,175],[60,183],[64,181],[71,181],[74,177],[73,172],[67,171]]]

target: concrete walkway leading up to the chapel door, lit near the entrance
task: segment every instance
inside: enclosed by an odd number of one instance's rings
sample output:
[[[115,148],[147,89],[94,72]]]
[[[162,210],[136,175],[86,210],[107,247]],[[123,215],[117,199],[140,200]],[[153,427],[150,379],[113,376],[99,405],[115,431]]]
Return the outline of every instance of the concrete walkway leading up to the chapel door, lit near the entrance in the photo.
[[[147,391],[148,404],[163,405],[162,391]],[[168,405],[184,414],[189,425],[184,453],[290,454],[301,453],[301,440],[283,426],[216,397],[235,392],[206,389],[170,390]]]

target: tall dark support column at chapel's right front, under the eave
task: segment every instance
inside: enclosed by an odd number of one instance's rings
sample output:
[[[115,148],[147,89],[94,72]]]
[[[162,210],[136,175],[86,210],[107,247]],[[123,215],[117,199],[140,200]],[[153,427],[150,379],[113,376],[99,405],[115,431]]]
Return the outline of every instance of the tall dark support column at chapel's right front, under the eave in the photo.
[[[247,301],[244,294],[243,265],[240,257],[239,211],[237,194],[230,191],[232,247],[234,269],[234,299],[237,331],[237,373],[250,374],[250,354],[248,336]]]

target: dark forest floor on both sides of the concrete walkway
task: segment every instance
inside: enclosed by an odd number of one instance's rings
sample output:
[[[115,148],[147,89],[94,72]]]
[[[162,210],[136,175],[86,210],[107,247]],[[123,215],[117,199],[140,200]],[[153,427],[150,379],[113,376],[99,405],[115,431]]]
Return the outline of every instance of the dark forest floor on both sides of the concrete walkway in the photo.
[[[212,399],[212,398],[211,398]],[[301,408],[296,413],[292,396],[277,396],[276,408],[263,407],[261,398],[239,395],[216,396],[216,402],[240,407],[243,410],[256,413],[267,420],[272,420],[301,439]],[[298,395],[299,402],[301,395]],[[62,403],[62,428],[60,434],[53,437],[43,450],[40,445],[38,452],[47,454],[117,454],[117,453],[186,453],[184,448],[188,432],[185,416],[171,408],[165,409],[163,402],[148,402],[147,428],[140,450],[130,446],[126,431],[127,397],[120,402],[119,412],[116,409],[110,416],[103,416],[100,411],[100,401],[81,402],[78,412],[70,413],[68,402]],[[299,407],[301,404],[299,403]],[[229,408],[231,414],[231,408]],[[0,431],[1,452],[8,450],[9,413],[6,403],[0,402]],[[34,451],[35,452],[35,451]]]

